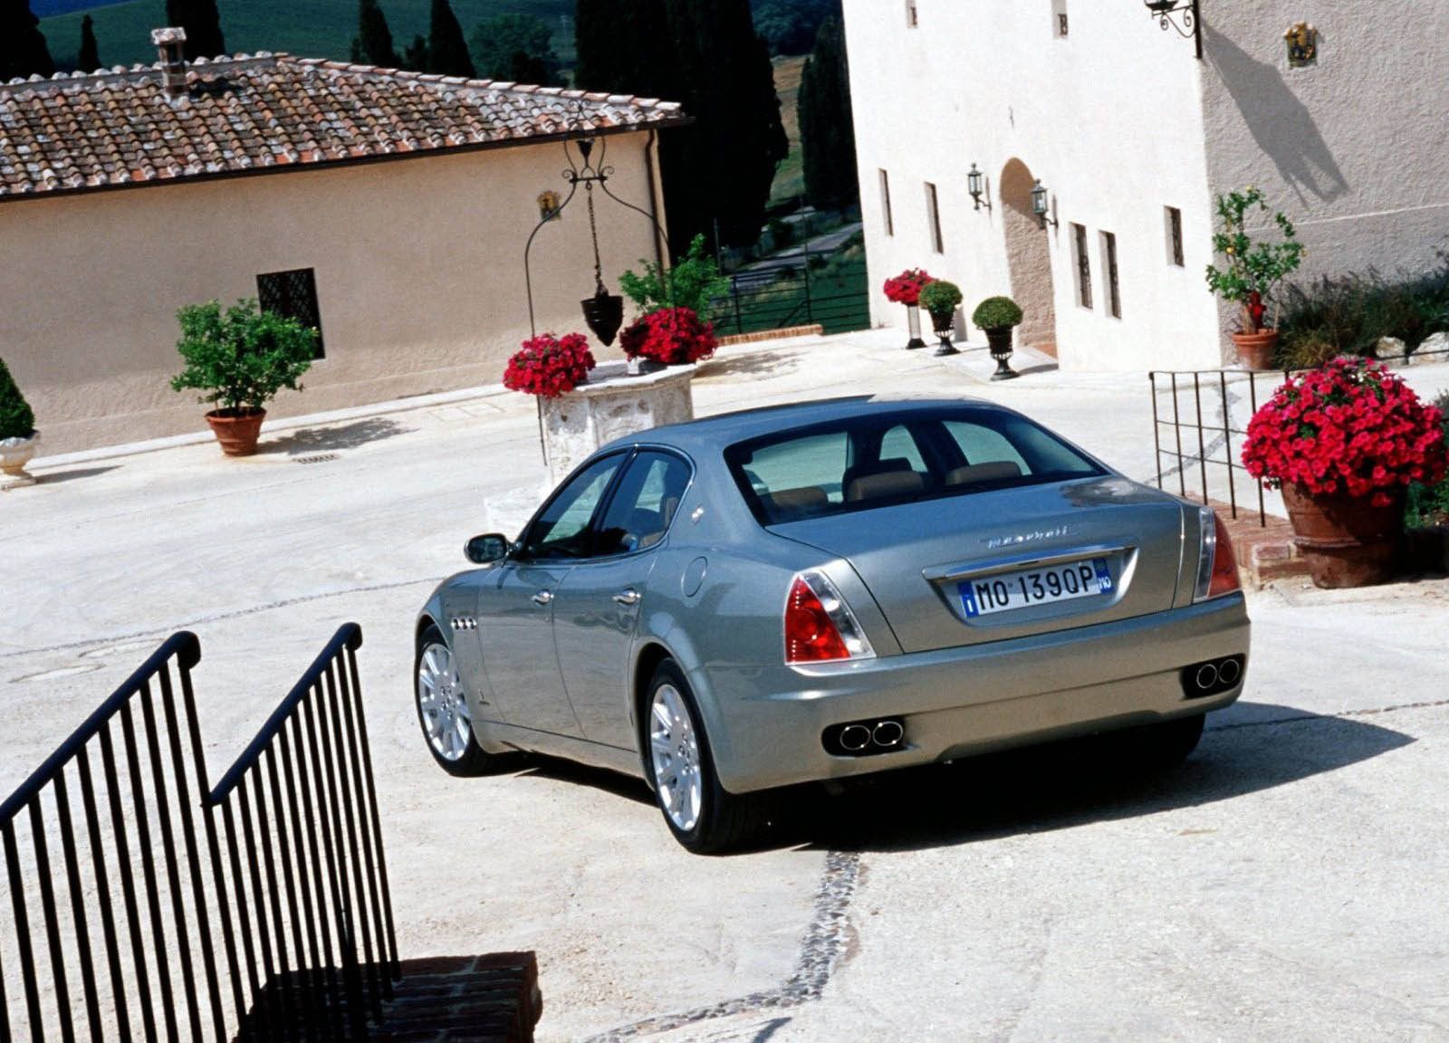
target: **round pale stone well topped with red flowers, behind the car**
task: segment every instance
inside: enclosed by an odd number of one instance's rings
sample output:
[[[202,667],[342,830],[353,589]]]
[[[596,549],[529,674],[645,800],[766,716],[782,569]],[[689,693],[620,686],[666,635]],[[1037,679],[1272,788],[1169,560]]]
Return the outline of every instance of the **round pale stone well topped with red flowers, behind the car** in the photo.
[[[623,362],[606,362],[588,374],[587,384],[558,398],[539,398],[543,461],[554,485],[606,442],[693,420],[694,371],[693,365],[674,365],[630,377]]]

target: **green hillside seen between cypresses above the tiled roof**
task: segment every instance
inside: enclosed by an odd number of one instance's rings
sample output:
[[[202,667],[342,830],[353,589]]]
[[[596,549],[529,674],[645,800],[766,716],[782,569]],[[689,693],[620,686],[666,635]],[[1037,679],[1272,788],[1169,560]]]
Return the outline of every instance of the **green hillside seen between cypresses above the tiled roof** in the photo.
[[[413,36],[427,35],[429,0],[383,0],[388,29],[397,52]],[[222,32],[226,48],[233,54],[246,51],[287,51],[307,58],[348,59],[352,36],[356,33],[356,0],[217,0],[222,12]],[[464,33],[493,14],[536,14],[554,29],[554,51],[564,65],[574,64],[574,0],[452,0],[454,13]],[[81,41],[81,17],[87,12],[57,14],[41,19],[41,30],[59,65],[70,65]],[[129,3],[94,7],[96,43],[100,59],[107,65],[151,64],[156,49],[151,30],[167,23],[165,0],[129,0]]]

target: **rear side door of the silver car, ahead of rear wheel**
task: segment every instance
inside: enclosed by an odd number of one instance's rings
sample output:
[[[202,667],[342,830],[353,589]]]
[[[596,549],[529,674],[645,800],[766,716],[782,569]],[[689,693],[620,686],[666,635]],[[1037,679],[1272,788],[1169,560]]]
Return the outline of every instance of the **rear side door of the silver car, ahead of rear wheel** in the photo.
[[[554,645],[564,690],[591,742],[633,749],[629,665],[651,574],[693,469],[682,456],[640,449],[596,526],[593,556],[559,582]]]

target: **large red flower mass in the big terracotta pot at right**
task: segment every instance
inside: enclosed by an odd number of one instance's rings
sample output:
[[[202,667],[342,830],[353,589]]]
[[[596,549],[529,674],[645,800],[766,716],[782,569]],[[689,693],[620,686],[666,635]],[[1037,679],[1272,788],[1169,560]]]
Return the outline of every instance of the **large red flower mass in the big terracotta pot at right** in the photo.
[[[1378,362],[1336,358],[1287,381],[1248,422],[1243,464],[1269,488],[1391,506],[1445,477],[1443,414]]]

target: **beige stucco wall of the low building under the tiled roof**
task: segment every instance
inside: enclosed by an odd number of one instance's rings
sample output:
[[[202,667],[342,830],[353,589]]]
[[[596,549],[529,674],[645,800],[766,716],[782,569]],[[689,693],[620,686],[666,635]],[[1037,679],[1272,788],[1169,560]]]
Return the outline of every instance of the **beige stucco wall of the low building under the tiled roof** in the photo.
[[[609,139],[609,184],[649,209],[646,141]],[[567,193],[564,167],[552,143],[3,203],[0,356],[46,453],[204,430],[206,407],[167,382],[177,309],[255,297],[259,272],[314,268],[326,359],[271,416],[497,382],[529,332],[535,198]],[[617,291],[619,272],[655,256],[653,230],[609,200],[597,213]],[[584,330],[582,191],[539,232],[532,269],[539,330]]]

